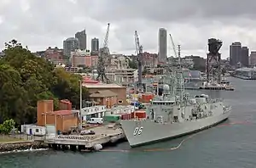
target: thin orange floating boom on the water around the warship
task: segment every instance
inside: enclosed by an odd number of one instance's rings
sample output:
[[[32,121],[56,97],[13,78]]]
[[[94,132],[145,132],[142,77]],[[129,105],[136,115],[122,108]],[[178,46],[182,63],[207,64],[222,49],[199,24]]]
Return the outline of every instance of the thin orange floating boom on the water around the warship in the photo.
[[[241,125],[241,124],[250,124],[252,122],[250,122],[249,120],[246,121],[234,121],[234,122],[230,122],[230,123],[225,123],[225,124],[221,124],[218,126],[230,126],[230,125]],[[197,132],[194,133],[192,135],[190,135],[189,137],[185,137],[180,143],[178,143],[178,145],[174,148],[146,148],[146,149],[102,149],[101,152],[124,152],[124,153],[128,153],[128,152],[163,152],[163,151],[170,151],[170,150],[176,150],[178,148],[180,148],[182,146],[182,144],[189,140],[192,137],[195,137],[196,135],[201,134],[202,132],[207,132],[207,130],[201,131],[201,132]]]

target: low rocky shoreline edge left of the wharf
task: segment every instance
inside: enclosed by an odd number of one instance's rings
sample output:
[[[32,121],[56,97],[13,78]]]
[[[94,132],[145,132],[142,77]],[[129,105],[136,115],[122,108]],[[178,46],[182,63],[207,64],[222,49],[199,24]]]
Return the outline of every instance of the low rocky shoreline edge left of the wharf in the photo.
[[[0,143],[0,154],[16,151],[26,151],[32,149],[46,149],[48,145],[44,142],[35,141],[17,141],[17,142],[4,142]]]

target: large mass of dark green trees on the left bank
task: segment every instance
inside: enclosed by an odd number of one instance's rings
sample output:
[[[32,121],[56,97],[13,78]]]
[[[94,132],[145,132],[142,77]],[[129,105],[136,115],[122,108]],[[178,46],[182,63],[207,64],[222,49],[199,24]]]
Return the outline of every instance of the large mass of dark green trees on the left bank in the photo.
[[[79,107],[81,76],[55,69],[15,40],[5,46],[0,59],[0,123],[10,118],[17,124],[36,122],[37,102],[42,99],[53,99],[55,109],[59,99],[69,99]],[[88,98],[85,88],[83,98]]]

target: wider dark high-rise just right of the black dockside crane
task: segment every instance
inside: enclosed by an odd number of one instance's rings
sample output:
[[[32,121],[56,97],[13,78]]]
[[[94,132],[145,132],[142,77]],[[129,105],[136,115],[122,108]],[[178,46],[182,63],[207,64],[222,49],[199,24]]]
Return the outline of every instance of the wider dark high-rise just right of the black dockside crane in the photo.
[[[241,61],[241,42],[230,45],[230,65],[236,66]]]

